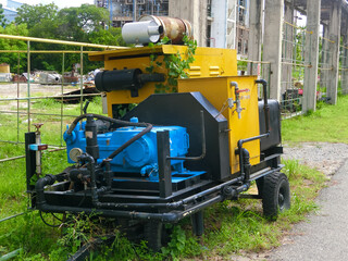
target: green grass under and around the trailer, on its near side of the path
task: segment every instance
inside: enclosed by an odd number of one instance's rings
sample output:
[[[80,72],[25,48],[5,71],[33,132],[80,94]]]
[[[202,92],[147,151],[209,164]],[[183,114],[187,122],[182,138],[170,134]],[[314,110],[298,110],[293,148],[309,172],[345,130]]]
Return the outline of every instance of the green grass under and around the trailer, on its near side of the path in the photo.
[[[45,172],[61,171],[65,165],[64,153],[45,154]],[[0,219],[25,211],[27,203],[24,192],[24,160],[3,164],[0,171],[0,178],[3,181],[0,184]],[[138,257],[140,260],[163,260],[169,257],[174,260],[209,260],[216,256],[227,259],[240,251],[262,251],[276,247],[284,231],[304,220],[308,212],[316,209],[314,198],[326,181],[323,174],[302,166],[297,161],[286,161],[285,164],[284,171],[291,184],[293,207],[281,214],[277,222],[269,222],[262,217],[261,202],[258,200],[225,201],[206,210],[206,234],[199,240],[190,232],[189,220],[184,220],[174,227],[172,241],[160,253],[151,253],[145,243],[133,244],[117,234],[113,245],[105,247],[98,256],[96,253],[94,260],[138,260]],[[49,223],[53,222],[49,215],[46,219]],[[70,234],[62,234],[60,228],[42,224],[37,212],[29,212],[0,223],[0,249],[7,253],[23,248],[18,260],[61,260],[74,252],[82,243],[79,238],[72,237],[84,232],[86,222],[80,223],[82,225],[74,224]],[[94,234],[88,232],[86,238],[91,235]]]

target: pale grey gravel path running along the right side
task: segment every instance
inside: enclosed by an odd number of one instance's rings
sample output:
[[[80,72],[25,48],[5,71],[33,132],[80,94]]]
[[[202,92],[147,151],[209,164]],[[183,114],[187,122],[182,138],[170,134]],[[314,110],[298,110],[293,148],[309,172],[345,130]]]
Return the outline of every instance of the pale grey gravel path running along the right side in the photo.
[[[348,260],[348,178],[345,175],[348,174],[348,145],[302,142],[283,146],[283,159],[298,160],[331,178],[330,186],[316,200],[320,211],[308,215],[308,222],[300,222],[286,232],[279,248],[259,253],[240,252],[229,256],[228,260]]]

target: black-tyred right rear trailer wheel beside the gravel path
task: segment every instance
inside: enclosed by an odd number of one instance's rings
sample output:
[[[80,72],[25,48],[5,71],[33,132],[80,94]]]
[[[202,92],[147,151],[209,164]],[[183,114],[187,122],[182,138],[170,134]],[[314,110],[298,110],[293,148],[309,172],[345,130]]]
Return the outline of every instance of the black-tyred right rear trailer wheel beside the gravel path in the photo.
[[[262,207],[263,215],[271,221],[290,208],[290,187],[284,173],[275,172],[263,178]]]

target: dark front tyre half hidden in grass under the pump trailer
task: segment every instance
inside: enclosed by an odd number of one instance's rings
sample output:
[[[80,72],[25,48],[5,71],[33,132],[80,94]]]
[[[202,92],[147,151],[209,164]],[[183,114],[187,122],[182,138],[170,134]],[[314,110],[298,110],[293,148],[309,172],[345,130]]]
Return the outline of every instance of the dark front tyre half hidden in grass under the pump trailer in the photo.
[[[148,241],[148,248],[154,252],[159,252],[162,247],[162,229],[161,222],[147,222],[144,225],[145,240]]]

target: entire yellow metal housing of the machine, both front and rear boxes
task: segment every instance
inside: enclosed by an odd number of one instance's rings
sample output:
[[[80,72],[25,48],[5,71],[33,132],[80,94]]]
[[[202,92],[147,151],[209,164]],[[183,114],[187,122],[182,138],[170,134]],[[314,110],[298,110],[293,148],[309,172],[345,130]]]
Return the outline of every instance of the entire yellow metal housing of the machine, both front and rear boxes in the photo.
[[[186,51],[187,47],[184,46],[163,45],[90,53],[89,58],[91,61],[104,61],[104,69],[108,71],[140,69],[146,73],[146,69],[150,66],[151,54],[157,54],[157,61],[162,62],[164,55],[167,54],[181,53],[185,58]],[[164,64],[156,67],[154,72],[167,74]],[[178,92],[200,91],[228,121],[229,163],[231,173],[234,174],[239,171],[239,157],[235,153],[238,140],[260,134],[256,77],[237,76],[236,50],[217,48],[197,48],[195,62],[187,73],[188,79],[178,80]],[[243,108],[241,119],[238,119],[236,105],[233,104],[236,95],[235,87],[231,85],[232,82],[236,82],[239,89],[248,89],[239,94]],[[129,90],[108,92],[109,116],[112,116],[113,104],[139,103],[154,94],[154,84],[148,83],[142,86],[138,97],[132,97]],[[244,147],[250,153],[250,163],[252,165],[260,163],[260,140],[247,142]]]

